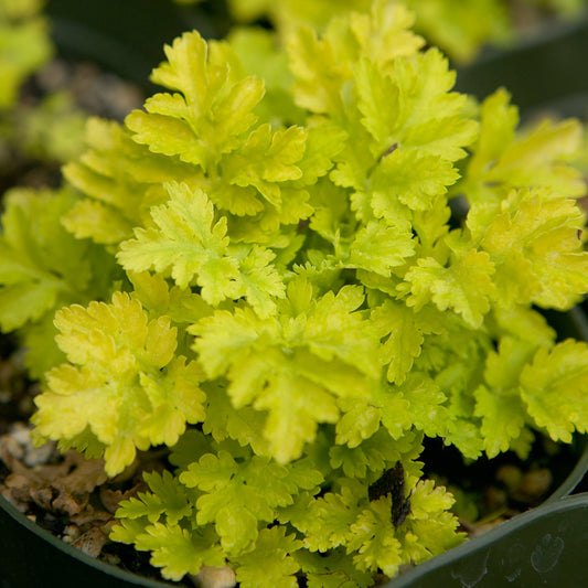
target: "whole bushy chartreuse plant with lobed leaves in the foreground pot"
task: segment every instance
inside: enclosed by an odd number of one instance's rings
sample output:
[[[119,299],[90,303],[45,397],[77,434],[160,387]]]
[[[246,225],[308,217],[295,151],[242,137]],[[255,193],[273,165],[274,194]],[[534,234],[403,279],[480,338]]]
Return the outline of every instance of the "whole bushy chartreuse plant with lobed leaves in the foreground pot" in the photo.
[[[110,477],[171,448],[111,534],[165,578],[371,586],[464,538],[425,436],[525,458],[588,428],[588,345],[537,311],[588,290],[580,127],[518,133],[411,24],[377,1],[287,47],[185,33],[169,92],[90,120],[71,186],[7,196],[0,324],[47,370],[36,441]]]

